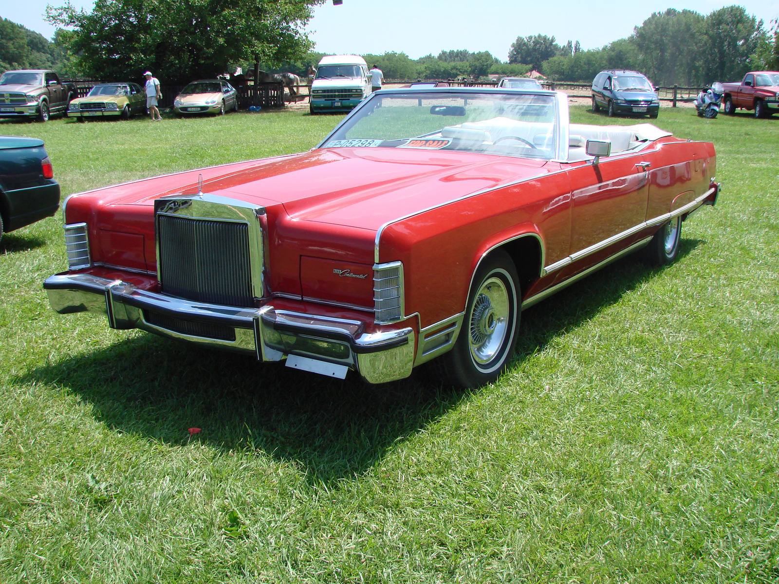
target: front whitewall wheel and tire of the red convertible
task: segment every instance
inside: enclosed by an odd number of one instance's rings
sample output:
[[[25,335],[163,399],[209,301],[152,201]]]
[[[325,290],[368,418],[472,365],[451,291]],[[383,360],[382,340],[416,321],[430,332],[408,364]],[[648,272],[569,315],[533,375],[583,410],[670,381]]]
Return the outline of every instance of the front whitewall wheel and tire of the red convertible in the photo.
[[[506,371],[520,325],[520,283],[509,255],[485,259],[473,282],[453,349],[430,364],[435,375],[460,388],[494,382]]]

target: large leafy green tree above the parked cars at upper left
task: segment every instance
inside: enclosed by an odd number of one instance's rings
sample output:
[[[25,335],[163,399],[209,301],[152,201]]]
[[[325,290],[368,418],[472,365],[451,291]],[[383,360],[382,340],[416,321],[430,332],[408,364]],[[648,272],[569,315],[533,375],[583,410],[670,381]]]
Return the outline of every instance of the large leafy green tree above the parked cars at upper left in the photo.
[[[72,27],[69,50],[87,76],[171,83],[213,77],[246,59],[294,60],[312,46],[302,25],[324,0],[97,0],[92,12],[68,3],[47,9]]]

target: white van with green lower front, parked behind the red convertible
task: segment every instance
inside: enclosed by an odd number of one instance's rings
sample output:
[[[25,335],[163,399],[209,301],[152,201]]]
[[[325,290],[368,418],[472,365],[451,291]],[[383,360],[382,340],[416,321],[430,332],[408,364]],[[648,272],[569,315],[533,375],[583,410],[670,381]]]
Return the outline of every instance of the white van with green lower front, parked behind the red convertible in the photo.
[[[328,55],[319,61],[311,86],[312,114],[349,111],[371,94],[371,76],[358,55]]]

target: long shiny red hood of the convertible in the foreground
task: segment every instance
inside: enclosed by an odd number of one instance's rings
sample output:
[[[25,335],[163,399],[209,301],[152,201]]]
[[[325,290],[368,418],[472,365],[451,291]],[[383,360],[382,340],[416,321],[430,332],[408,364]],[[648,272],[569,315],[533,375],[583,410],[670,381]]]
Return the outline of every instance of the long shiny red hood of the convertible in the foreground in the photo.
[[[100,189],[104,211],[153,206],[198,190],[258,206],[283,206],[293,220],[378,230],[383,223],[475,192],[546,174],[546,160],[400,148],[329,148],[228,164]],[[87,195],[87,193],[85,193]]]

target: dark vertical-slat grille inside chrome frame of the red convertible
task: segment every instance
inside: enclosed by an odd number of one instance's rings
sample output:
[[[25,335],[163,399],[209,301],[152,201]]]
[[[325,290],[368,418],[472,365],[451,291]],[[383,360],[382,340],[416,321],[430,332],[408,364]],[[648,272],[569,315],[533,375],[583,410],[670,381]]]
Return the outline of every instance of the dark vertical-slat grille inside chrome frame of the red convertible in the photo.
[[[249,225],[157,215],[160,286],[199,302],[252,306]]]

